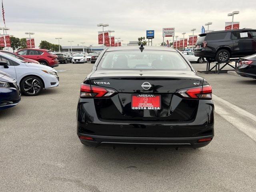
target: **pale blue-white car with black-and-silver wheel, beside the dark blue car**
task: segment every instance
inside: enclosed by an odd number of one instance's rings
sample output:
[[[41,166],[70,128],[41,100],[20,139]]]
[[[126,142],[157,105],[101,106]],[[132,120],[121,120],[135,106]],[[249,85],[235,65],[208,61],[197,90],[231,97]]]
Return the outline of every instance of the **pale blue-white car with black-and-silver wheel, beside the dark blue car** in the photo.
[[[57,71],[51,67],[26,63],[4,53],[0,53],[0,60],[6,62],[0,64],[0,71],[16,78],[24,95],[35,96],[43,88],[59,86]]]

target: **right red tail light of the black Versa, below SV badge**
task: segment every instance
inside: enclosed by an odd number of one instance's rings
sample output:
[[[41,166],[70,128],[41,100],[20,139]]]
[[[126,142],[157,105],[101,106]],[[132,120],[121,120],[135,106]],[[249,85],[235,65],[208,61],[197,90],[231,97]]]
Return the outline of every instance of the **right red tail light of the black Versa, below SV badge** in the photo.
[[[192,88],[180,90],[178,91],[178,93],[184,98],[212,99],[212,87],[210,85],[192,87]]]

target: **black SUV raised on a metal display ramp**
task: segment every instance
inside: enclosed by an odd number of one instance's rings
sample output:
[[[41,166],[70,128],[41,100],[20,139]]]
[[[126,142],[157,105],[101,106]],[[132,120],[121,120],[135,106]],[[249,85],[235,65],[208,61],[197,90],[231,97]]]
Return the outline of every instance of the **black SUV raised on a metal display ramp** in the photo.
[[[255,54],[256,30],[238,29],[200,34],[194,53],[195,56],[217,62]]]

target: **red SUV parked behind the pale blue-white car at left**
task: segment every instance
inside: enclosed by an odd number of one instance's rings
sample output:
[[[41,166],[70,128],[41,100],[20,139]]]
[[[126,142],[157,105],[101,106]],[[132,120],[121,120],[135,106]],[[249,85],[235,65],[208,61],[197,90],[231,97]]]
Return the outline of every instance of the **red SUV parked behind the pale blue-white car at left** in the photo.
[[[24,58],[34,59],[41,65],[47,65],[50,67],[59,66],[58,56],[46,49],[21,49],[16,54],[21,55]]]

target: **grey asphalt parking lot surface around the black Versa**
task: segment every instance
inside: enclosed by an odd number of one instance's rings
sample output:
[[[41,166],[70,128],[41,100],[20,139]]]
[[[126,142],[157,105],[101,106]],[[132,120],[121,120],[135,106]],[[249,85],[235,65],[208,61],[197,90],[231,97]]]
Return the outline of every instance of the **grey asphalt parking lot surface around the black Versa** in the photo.
[[[60,64],[59,87],[0,111],[0,191],[255,191],[256,80],[201,74],[216,106],[215,137],[204,148],[114,150],[88,148],[76,135],[80,83],[91,68]]]

